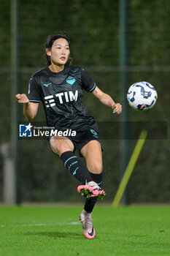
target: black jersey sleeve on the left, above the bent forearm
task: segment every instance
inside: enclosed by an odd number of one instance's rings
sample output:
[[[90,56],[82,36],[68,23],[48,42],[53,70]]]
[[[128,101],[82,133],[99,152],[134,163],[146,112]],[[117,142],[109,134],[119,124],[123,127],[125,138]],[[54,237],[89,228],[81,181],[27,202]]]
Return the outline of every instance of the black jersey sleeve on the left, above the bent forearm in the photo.
[[[28,85],[28,99],[30,102],[40,102],[41,97],[41,86],[36,82],[34,76],[31,77]]]

